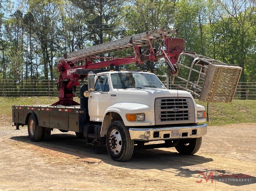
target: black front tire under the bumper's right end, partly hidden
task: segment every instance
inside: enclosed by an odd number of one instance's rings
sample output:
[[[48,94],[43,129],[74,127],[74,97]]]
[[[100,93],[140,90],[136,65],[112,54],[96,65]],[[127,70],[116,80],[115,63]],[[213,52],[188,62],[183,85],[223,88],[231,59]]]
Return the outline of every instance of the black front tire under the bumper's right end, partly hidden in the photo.
[[[175,149],[181,154],[195,154],[202,144],[202,137],[180,140]]]

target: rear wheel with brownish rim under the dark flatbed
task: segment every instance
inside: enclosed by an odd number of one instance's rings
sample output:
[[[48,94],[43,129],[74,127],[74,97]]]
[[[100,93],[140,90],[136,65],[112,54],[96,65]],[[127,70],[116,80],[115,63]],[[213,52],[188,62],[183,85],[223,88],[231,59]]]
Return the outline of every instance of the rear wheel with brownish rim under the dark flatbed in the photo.
[[[30,115],[27,123],[27,132],[31,141],[37,142],[42,138],[43,128],[36,125],[33,115]]]

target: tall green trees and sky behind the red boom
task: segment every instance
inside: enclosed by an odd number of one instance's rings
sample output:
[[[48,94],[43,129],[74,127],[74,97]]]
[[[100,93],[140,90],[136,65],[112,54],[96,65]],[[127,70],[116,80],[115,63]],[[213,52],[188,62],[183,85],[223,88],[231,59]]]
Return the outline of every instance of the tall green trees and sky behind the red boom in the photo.
[[[255,0],[1,0],[0,79],[57,79],[63,53],[163,27],[179,29],[186,51],[238,64],[241,82],[255,82],[255,24]],[[121,68],[168,74],[162,60]]]

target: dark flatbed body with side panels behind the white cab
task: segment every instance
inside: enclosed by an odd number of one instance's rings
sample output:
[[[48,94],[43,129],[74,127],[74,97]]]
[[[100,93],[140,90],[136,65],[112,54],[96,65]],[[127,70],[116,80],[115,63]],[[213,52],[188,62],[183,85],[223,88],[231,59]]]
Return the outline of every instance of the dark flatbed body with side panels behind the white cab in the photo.
[[[83,132],[88,114],[88,109],[80,106],[14,105],[12,109],[16,126],[27,125],[29,116],[34,115],[38,126],[74,132]]]

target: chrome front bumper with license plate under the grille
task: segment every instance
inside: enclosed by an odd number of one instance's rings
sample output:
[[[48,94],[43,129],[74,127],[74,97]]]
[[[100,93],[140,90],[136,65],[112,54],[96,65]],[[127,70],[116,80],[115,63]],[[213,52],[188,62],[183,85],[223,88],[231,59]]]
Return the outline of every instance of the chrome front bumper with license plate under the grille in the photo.
[[[154,141],[198,138],[207,133],[207,124],[186,127],[129,128],[131,140]]]

